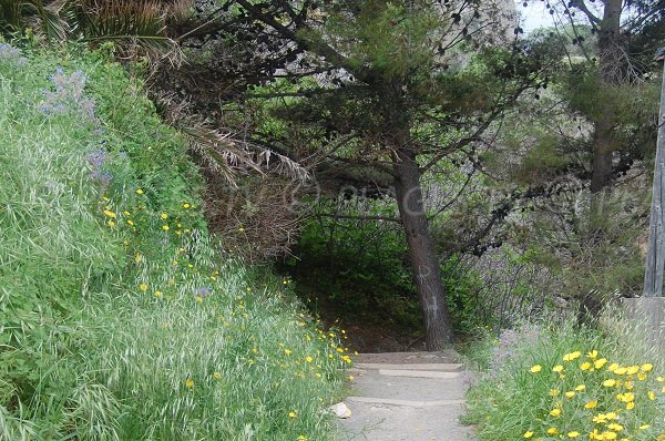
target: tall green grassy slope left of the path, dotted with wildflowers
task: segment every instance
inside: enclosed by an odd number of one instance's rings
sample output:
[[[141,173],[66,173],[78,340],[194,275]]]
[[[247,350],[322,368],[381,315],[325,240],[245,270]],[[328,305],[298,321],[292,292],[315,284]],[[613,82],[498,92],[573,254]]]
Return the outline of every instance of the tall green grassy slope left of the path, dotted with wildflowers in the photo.
[[[110,57],[0,45],[0,439],[326,440],[349,359],[222,256]]]

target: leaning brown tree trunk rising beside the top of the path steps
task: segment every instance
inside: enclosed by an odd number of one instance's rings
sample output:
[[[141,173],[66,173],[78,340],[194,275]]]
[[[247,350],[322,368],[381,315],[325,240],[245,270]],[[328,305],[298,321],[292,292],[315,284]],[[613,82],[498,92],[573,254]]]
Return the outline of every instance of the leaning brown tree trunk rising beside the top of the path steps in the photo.
[[[407,237],[416,290],[424,321],[427,350],[441,350],[452,342],[452,326],[441,284],[439,259],[429,232],[416,155],[408,148],[409,134],[397,136],[395,189]]]

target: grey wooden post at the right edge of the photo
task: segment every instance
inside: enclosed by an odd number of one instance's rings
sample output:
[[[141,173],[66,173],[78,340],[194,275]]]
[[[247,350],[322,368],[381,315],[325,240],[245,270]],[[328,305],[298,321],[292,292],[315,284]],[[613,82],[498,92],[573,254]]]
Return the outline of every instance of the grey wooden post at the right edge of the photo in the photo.
[[[656,54],[657,61],[665,59],[665,48]],[[648,253],[644,273],[644,297],[663,296],[663,270],[665,269],[665,63],[661,90],[658,115],[658,141],[652,191],[652,211],[648,227]]]

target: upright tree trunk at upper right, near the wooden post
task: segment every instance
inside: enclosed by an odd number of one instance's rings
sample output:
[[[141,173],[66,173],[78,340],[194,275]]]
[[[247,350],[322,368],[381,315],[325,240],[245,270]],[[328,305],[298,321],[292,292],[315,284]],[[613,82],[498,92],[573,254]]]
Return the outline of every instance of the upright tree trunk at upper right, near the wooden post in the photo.
[[[598,35],[598,69],[601,88],[613,88],[622,82],[621,13],[622,0],[606,0]],[[601,91],[602,93],[602,91]],[[616,150],[615,114],[606,109],[594,122],[591,193],[600,193],[612,177],[612,154]]]

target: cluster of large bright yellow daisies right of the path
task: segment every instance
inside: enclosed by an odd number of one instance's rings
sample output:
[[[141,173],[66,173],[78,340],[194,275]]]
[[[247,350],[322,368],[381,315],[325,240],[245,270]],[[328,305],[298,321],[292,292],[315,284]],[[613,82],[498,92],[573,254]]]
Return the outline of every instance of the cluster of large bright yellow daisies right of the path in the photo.
[[[529,368],[526,388],[548,390],[544,407],[522,433],[524,439],[663,440],[661,421],[643,408],[665,393],[665,378],[645,362],[622,366],[597,350],[565,353],[553,366]],[[652,414],[649,418],[648,416]]]

